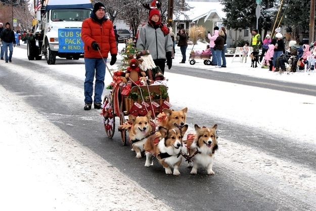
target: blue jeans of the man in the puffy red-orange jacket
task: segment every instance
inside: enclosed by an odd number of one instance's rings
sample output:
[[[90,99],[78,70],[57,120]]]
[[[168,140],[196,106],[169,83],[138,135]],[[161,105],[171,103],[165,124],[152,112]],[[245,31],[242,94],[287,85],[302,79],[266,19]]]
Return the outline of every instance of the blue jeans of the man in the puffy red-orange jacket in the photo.
[[[105,62],[107,58],[104,58]],[[104,90],[105,64],[102,59],[84,58],[85,80],[84,80],[84,103],[93,102],[93,81],[96,75],[95,100],[94,103],[102,102],[102,93]]]

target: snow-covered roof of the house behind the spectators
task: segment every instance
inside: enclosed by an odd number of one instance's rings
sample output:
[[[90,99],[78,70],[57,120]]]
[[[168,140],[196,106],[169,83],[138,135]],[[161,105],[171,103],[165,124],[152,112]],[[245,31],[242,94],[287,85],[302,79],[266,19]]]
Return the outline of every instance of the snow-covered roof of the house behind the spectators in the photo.
[[[216,19],[214,21],[218,21],[218,19],[225,18],[226,15],[222,11],[224,8],[223,5],[220,4],[220,2],[186,2],[192,9],[186,12],[187,16],[189,17],[189,20],[196,21],[200,18],[205,17],[204,21],[211,21],[213,19]],[[180,15],[178,20],[186,20],[184,15]]]

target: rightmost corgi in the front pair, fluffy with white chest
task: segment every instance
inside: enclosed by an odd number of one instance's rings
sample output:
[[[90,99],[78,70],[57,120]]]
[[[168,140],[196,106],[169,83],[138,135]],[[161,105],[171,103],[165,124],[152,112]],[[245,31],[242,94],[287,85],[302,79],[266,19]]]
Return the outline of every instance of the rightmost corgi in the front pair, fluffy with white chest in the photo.
[[[212,128],[200,128],[197,124],[194,125],[196,131],[195,138],[192,142],[187,143],[189,149],[189,155],[193,160],[193,166],[191,163],[188,167],[192,167],[192,175],[196,175],[198,167],[206,167],[208,175],[214,175],[213,163],[214,152],[218,148],[216,129],[217,124],[214,124]]]

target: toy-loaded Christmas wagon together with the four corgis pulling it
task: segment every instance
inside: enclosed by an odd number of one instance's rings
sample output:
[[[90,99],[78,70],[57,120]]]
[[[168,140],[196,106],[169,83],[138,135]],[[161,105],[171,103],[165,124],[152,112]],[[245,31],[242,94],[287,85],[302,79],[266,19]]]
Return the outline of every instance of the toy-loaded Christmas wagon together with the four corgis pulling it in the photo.
[[[127,49],[126,52],[131,52]],[[146,157],[150,167],[157,158],[165,174],[180,175],[183,157],[196,175],[206,168],[214,175],[214,151],[217,149],[217,124],[205,128],[195,124],[195,134],[189,134],[186,123],[188,108],[171,110],[167,80],[148,53],[129,54],[123,68],[113,72],[112,91],[105,96],[101,115],[107,136],[114,136],[115,117],[119,118],[118,132],[123,145],[127,142],[136,158]],[[108,89],[107,88],[107,89]],[[128,136],[127,136],[128,132]]]

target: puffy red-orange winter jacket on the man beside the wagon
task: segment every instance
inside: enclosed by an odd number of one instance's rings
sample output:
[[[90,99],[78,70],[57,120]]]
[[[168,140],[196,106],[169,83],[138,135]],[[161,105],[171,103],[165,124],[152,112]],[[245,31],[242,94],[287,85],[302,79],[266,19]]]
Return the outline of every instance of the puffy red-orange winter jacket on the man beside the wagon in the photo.
[[[100,24],[94,13],[82,22],[81,39],[84,43],[84,58],[101,58],[99,51],[92,49],[94,41],[99,44],[102,57],[108,58],[109,52],[117,54],[112,21],[103,18]]]

